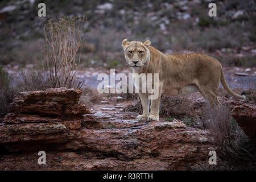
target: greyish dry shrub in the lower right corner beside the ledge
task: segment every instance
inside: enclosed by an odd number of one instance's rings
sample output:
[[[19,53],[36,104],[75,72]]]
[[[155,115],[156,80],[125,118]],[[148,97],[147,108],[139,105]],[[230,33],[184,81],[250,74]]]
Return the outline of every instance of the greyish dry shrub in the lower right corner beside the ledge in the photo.
[[[213,109],[209,105],[203,111],[202,120],[216,143],[217,166],[208,169],[256,169],[255,146],[230,115],[230,106]],[[195,169],[207,169],[207,165]]]

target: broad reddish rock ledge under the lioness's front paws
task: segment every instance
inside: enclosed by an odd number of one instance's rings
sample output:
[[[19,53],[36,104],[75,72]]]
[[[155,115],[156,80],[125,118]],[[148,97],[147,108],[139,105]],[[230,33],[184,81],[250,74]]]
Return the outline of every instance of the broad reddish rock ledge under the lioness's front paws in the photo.
[[[127,119],[127,115],[131,118]],[[44,128],[48,131],[44,136],[53,139],[43,145],[39,138],[32,137],[35,133],[22,130],[27,142],[24,138],[19,142],[4,140],[8,150],[22,154],[4,156],[0,169],[184,170],[208,162],[208,152],[214,150],[208,131],[187,127],[179,120],[148,123],[134,117],[133,113],[86,114],[82,127],[73,128],[73,139],[64,127]],[[55,133],[61,130],[67,132],[68,142],[57,142],[67,138],[65,132]],[[37,164],[40,150],[47,154],[47,164],[43,166]]]

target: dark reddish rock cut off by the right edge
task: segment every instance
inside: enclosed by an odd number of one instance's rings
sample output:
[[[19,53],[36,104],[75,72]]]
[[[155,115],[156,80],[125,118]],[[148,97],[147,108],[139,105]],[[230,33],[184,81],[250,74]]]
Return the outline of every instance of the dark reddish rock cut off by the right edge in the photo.
[[[232,116],[245,134],[256,142],[256,105],[243,103],[236,105],[233,107]]]

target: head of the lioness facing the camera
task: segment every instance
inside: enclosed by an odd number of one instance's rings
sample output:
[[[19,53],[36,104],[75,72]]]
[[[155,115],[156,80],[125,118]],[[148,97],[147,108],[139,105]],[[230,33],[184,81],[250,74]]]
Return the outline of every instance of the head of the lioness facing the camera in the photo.
[[[131,68],[141,67],[150,58],[149,40],[142,43],[139,41],[129,42],[127,39],[123,39],[122,47],[125,51],[125,59]]]

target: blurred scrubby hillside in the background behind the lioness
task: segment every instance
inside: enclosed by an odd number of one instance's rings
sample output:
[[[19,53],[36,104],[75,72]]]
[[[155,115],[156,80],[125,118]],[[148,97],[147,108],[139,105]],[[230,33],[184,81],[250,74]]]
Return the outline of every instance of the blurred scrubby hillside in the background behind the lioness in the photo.
[[[46,18],[38,3],[46,3]],[[208,4],[217,17],[208,16]],[[255,1],[1,1],[0,65],[20,67],[41,59],[43,24],[49,18],[87,17],[84,66],[122,67],[121,42],[151,40],[166,53],[202,52],[224,65],[256,66]]]

